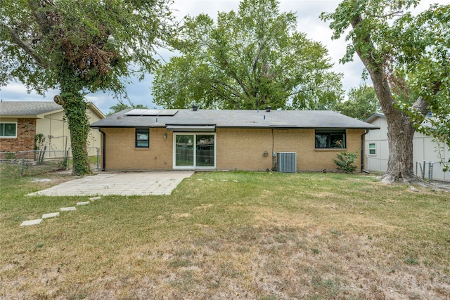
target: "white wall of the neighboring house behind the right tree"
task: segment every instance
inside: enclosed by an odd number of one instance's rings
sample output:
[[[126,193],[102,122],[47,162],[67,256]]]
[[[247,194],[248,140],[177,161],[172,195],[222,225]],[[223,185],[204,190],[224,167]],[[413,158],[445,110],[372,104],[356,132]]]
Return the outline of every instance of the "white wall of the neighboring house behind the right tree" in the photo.
[[[369,118],[370,119],[370,118]],[[387,144],[387,122],[386,118],[374,117],[369,123],[380,127],[366,134],[365,150],[366,163],[364,168],[367,171],[387,170],[387,159],[389,158],[389,148]],[[443,171],[443,165],[439,164],[442,160],[448,161],[450,158],[450,149],[448,146],[436,143],[430,136],[416,132],[413,138],[413,159],[414,173],[420,176],[424,168],[423,162],[435,162],[433,164],[432,178],[435,180],[450,181],[450,173]],[[425,178],[428,178],[428,164],[425,164]]]

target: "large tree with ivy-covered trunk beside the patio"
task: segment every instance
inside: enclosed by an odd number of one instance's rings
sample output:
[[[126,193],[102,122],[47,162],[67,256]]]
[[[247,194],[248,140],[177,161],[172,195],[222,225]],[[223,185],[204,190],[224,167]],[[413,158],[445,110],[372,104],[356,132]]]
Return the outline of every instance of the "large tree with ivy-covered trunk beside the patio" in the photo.
[[[167,1],[2,1],[0,84],[60,90],[54,100],[68,119],[74,174],[91,173],[84,95],[124,93],[124,78],[153,70],[155,46],[170,34]]]

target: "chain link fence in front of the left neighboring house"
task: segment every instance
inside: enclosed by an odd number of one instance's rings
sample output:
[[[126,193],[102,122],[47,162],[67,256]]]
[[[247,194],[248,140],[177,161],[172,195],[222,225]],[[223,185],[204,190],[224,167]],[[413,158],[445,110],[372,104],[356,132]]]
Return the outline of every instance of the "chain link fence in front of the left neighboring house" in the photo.
[[[91,169],[100,169],[100,149],[89,148]],[[34,176],[51,171],[72,169],[70,150],[35,150],[0,152],[0,178]]]

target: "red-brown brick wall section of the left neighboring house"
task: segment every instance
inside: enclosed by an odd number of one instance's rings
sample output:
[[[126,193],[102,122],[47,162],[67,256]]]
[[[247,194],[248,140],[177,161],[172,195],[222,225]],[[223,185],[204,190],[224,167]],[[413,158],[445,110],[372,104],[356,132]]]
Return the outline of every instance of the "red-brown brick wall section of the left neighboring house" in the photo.
[[[0,152],[34,150],[36,119],[17,119],[17,138],[0,138]]]

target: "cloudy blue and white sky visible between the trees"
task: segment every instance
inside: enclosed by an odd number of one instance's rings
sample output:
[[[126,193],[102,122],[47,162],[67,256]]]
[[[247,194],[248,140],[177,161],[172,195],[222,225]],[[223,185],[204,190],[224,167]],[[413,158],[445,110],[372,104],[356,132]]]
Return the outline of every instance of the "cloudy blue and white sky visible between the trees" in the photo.
[[[172,11],[176,18],[181,20],[185,15],[192,17],[199,13],[206,13],[211,18],[216,18],[218,12],[237,11],[239,0],[174,0]],[[297,31],[307,34],[309,39],[320,41],[323,46],[328,49],[330,61],[334,64],[333,71],[344,74],[342,84],[345,91],[353,87],[363,84],[361,74],[364,69],[359,58],[355,57],[352,63],[342,65],[339,63],[340,58],[345,54],[346,42],[344,38],[338,40],[331,39],[331,30],[328,23],[319,20],[322,12],[333,12],[340,1],[337,0],[279,0],[280,11],[292,11],[297,15]],[[418,11],[423,11],[430,4],[450,4],[450,0],[422,0]],[[168,61],[173,55],[167,50],[161,50],[160,56]],[[151,80],[152,75],[148,74],[143,81],[131,79],[133,82],[127,86],[127,93],[133,104],[143,104],[149,108],[160,108],[152,102]],[[370,83],[370,82],[369,82]],[[4,101],[13,100],[53,100],[58,91],[49,91],[46,96],[39,96],[34,92],[27,93],[27,89],[20,81],[10,82],[7,86],[0,86],[0,99]],[[110,107],[117,104],[117,100],[113,98],[113,93],[95,93],[86,95],[86,99],[94,103],[104,114],[110,111]],[[125,100],[127,101],[127,100]]]

